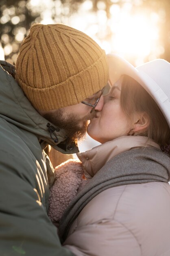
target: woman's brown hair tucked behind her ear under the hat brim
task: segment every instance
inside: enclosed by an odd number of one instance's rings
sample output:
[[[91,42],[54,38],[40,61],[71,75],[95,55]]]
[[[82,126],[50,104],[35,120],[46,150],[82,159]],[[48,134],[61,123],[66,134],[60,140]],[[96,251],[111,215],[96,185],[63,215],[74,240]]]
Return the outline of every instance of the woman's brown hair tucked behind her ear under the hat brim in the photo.
[[[170,144],[170,128],[160,108],[146,90],[130,76],[124,75],[120,103],[125,114],[133,119],[136,112],[146,112],[150,124],[144,136],[153,139],[160,146]]]

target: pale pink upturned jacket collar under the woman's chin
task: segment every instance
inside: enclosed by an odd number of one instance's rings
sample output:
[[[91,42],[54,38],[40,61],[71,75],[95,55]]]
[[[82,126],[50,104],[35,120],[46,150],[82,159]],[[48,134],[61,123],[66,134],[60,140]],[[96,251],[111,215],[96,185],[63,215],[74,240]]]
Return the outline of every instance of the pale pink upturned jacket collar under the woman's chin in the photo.
[[[160,146],[153,140],[144,136],[122,136],[112,141],[96,146],[91,150],[83,153],[77,153],[77,157],[81,160],[83,171],[87,179],[91,179],[111,158],[116,155],[130,150],[132,148],[152,146],[159,148]]]

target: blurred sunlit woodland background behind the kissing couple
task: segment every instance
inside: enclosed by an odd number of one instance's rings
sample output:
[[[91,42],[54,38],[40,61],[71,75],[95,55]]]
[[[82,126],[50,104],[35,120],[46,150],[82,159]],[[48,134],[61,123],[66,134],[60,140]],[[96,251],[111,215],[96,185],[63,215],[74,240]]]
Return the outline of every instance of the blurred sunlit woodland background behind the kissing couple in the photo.
[[[170,0],[0,0],[0,59],[15,63],[30,26],[56,22],[134,66],[155,58],[170,62]]]

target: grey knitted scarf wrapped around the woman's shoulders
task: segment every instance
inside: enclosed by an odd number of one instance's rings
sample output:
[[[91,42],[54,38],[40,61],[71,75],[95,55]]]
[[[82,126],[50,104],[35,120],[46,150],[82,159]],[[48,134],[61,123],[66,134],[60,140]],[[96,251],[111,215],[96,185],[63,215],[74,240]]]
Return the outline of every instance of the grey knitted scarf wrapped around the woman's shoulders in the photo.
[[[59,226],[61,242],[85,205],[100,192],[114,186],[145,182],[168,182],[170,157],[153,147],[125,151],[107,162],[65,210]]]

